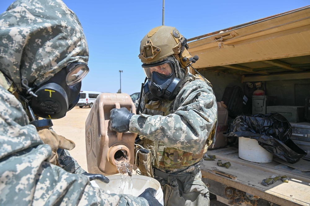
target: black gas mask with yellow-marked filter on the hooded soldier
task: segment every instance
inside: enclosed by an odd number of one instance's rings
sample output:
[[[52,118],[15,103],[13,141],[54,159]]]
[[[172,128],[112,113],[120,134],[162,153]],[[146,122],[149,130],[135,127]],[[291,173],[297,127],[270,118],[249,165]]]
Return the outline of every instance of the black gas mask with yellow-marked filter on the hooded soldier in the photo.
[[[81,81],[88,71],[86,64],[74,62],[36,86],[29,101],[33,113],[46,119],[64,117],[78,103]]]

